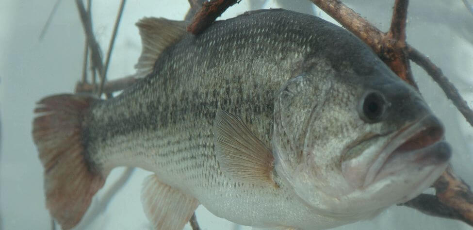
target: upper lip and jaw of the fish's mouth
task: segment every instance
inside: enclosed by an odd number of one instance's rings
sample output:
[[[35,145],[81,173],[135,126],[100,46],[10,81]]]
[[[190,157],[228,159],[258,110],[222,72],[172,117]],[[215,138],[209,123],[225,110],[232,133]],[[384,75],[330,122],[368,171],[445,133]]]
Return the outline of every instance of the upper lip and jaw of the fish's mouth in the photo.
[[[431,130],[438,132],[432,134],[433,138],[427,137],[423,139],[418,137],[418,135],[429,134],[424,132],[429,132]],[[389,161],[390,156],[393,153],[414,151],[431,147],[443,139],[443,134],[444,128],[434,115],[426,115],[423,118],[408,124],[400,131],[397,131],[397,133],[391,137],[391,140],[379,152],[373,164],[371,164],[365,176],[363,187],[366,187],[375,181],[376,176]],[[424,140],[427,141],[426,144],[422,143]],[[450,155],[447,158],[449,157]]]

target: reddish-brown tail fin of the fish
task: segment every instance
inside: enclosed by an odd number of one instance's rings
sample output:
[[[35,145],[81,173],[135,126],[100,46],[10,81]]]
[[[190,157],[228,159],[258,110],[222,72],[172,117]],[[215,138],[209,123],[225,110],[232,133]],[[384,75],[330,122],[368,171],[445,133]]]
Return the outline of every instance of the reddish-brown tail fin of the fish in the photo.
[[[40,113],[33,120],[33,140],[44,167],[46,206],[63,229],[81,220],[106,178],[88,162],[82,134],[83,115],[95,100],[55,95],[40,100],[34,110]]]

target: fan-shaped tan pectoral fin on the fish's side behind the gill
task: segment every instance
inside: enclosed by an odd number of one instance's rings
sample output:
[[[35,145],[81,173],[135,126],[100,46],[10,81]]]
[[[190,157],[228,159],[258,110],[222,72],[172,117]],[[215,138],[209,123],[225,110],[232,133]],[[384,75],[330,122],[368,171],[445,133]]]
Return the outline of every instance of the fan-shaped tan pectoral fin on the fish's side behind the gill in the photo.
[[[225,175],[236,181],[277,186],[272,177],[273,154],[240,117],[220,110],[213,126],[216,158]]]

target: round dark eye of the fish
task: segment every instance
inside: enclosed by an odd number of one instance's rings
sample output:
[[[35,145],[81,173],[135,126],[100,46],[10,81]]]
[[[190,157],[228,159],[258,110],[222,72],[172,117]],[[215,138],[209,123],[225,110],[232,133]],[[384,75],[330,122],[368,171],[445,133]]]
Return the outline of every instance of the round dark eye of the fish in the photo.
[[[386,100],[378,92],[370,92],[363,99],[362,116],[368,123],[380,120],[386,110]]]

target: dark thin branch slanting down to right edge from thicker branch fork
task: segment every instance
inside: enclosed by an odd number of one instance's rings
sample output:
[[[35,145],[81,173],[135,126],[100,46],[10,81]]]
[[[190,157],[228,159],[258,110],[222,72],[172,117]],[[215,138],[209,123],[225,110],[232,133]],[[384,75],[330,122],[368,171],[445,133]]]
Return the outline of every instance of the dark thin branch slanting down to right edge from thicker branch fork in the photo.
[[[408,56],[410,60],[421,66],[432,79],[439,84],[440,88],[442,88],[443,92],[447,95],[447,98],[452,100],[458,111],[460,111],[468,123],[473,126],[473,111],[468,106],[468,102],[458,93],[457,88],[443,75],[442,70],[433,64],[429,58],[409,45]]]

